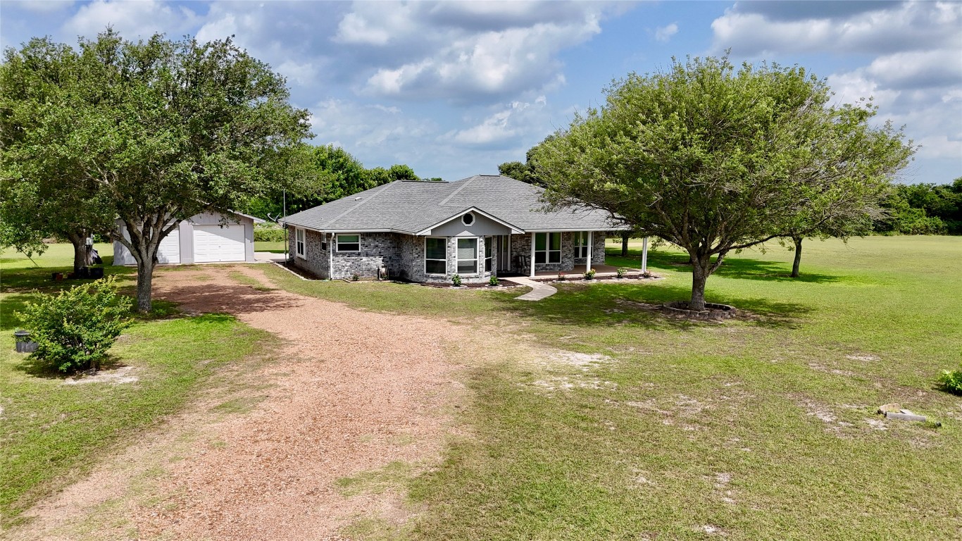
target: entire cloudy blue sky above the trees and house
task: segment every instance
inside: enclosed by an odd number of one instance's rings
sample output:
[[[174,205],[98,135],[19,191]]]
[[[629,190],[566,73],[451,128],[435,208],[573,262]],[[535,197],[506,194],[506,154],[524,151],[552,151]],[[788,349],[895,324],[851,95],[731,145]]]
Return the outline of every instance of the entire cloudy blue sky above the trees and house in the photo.
[[[902,182],[962,176],[960,2],[13,2],[0,45],[108,24],[241,46],[288,78],[314,142],[455,180],[523,161],[613,79],[671,57],[800,64],[922,148]]]

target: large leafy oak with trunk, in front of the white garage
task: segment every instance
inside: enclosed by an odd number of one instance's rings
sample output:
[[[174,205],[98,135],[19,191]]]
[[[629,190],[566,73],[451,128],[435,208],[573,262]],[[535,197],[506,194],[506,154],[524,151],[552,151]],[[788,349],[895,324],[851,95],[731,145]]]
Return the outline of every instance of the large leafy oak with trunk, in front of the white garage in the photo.
[[[77,64],[64,97],[4,129],[32,132],[44,159],[110,201],[124,223],[110,234],[137,261],[138,309],[149,310],[161,240],[182,219],[266,193],[310,136],[308,112],[291,107],[283,77],[231,39],[133,42],[108,29],[60,50]],[[12,62],[18,54],[8,51],[5,69],[25,65]]]

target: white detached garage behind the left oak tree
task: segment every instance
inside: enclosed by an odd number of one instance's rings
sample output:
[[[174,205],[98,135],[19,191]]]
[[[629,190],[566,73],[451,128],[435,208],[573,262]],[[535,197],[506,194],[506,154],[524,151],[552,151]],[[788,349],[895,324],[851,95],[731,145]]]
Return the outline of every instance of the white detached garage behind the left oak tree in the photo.
[[[165,264],[254,262],[254,223],[264,220],[241,213],[204,213],[185,219],[161,241],[157,262]],[[123,222],[117,226],[127,238]],[[114,265],[135,265],[127,246],[114,241]]]

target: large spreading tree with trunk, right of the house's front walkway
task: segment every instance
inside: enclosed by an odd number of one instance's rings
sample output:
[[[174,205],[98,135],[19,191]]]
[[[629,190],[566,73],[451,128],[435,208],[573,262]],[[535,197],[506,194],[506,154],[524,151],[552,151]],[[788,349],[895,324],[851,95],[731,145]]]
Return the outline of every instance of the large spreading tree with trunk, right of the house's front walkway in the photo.
[[[825,82],[797,66],[675,60],[605,93],[537,147],[545,197],[687,250],[693,309],[730,251],[785,236],[848,187],[888,182],[913,152],[891,124],[869,124],[871,101],[831,105]]]

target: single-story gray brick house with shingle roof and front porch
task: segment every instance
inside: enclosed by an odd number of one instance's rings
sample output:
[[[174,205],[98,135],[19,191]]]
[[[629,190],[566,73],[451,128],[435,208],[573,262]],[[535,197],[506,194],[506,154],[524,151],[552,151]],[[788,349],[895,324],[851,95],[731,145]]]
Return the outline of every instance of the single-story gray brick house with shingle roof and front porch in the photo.
[[[321,278],[479,283],[603,264],[607,232],[628,227],[587,207],[545,211],[543,192],[499,175],[395,181],[281,223],[292,264]]]

